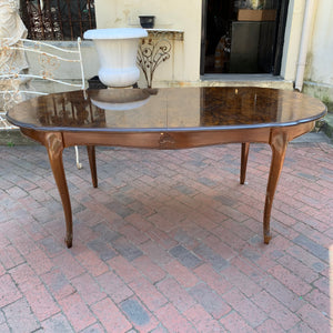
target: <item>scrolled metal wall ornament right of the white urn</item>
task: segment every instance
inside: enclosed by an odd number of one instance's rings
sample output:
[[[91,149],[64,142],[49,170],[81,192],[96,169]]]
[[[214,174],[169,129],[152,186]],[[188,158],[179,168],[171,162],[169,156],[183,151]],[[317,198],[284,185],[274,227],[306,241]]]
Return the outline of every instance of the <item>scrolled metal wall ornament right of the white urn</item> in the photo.
[[[171,42],[167,37],[158,34],[143,38],[138,50],[137,63],[141,68],[148,88],[152,88],[157,68],[170,58]]]

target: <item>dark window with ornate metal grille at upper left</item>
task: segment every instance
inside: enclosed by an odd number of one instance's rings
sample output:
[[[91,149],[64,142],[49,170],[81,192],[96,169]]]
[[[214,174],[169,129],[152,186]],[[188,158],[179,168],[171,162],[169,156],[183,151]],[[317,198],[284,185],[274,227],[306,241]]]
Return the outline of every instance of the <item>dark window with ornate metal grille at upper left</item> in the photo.
[[[95,28],[94,0],[20,0],[20,13],[33,40],[75,40]]]

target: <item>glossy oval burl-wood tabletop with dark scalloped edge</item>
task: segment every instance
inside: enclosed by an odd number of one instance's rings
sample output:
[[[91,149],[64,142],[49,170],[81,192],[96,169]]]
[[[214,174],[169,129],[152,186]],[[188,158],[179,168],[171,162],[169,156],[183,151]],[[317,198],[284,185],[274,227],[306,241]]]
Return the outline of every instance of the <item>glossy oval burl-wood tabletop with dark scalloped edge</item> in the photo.
[[[266,88],[103,89],[42,95],[7,118],[47,131],[209,131],[315,121],[326,107],[303,93]]]

